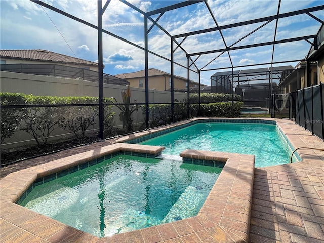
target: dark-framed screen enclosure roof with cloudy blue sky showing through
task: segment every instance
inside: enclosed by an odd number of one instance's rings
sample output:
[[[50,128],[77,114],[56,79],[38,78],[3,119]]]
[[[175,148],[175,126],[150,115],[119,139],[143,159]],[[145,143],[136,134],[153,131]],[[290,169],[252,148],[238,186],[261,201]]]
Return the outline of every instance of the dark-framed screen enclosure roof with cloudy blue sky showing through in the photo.
[[[177,75],[209,84],[216,71],[295,66],[305,60],[312,47],[315,52],[320,47],[316,34],[324,23],[322,1],[75,0],[53,1],[51,5],[38,0],[31,0],[29,4],[12,2],[1,3],[1,22],[10,24],[1,29],[3,49],[13,49],[14,42],[21,45],[22,39],[24,44],[50,49],[46,45],[52,47],[55,38],[49,35],[61,30],[55,37],[62,39],[64,35],[75,49],[92,51],[93,56],[98,57],[98,69],[107,69],[103,72],[113,75],[120,73],[120,69],[124,73],[145,69],[147,128],[150,67],[170,73],[172,80]],[[44,9],[55,13],[45,15]],[[40,12],[44,15],[38,15]],[[51,22],[56,23],[56,30],[51,26],[49,31],[44,18],[54,17],[57,21],[51,19]],[[37,26],[33,26],[35,24]],[[22,28],[24,25],[28,26]],[[63,50],[56,52],[65,54]],[[171,84],[173,105],[173,82]],[[102,103],[103,77],[100,75],[98,95]],[[99,107],[99,113],[103,114],[103,106]],[[189,114],[189,105],[187,107]],[[102,128],[100,137],[103,137]]]

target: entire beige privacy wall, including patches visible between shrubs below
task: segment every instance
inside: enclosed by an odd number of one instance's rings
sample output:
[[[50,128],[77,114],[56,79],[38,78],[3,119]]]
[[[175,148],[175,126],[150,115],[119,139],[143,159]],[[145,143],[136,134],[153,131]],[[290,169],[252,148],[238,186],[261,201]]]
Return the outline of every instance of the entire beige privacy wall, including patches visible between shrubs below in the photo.
[[[126,90],[126,86],[104,84],[104,97],[114,97],[119,103],[122,103],[120,93]],[[14,73],[14,72],[0,72],[0,92],[9,93],[23,93],[32,94],[36,96],[90,96],[98,97],[98,83],[83,80],[82,78],[70,79],[61,77],[49,77],[32,74]],[[187,98],[187,93],[174,93],[174,99],[183,101]],[[131,102],[145,103],[145,89],[131,88]],[[149,90],[150,103],[170,103],[171,92]],[[121,126],[119,120],[119,110],[113,109],[115,114],[115,126]],[[141,109],[134,113],[134,123],[141,123],[143,121],[143,112]],[[94,128],[90,128],[89,133],[98,131],[99,124],[97,123]],[[57,129],[53,133],[52,140],[69,136],[66,131]],[[24,143],[33,142],[31,135],[24,131],[17,131],[16,134],[5,140],[2,146],[13,147],[20,146]]]

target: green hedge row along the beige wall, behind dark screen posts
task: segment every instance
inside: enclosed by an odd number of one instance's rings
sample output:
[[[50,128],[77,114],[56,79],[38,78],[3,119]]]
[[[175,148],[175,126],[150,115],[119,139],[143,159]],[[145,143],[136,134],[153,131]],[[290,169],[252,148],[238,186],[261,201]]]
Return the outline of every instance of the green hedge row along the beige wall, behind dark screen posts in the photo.
[[[201,95],[199,116],[206,117],[238,117],[243,106],[239,95],[231,94],[206,94]],[[13,104],[97,104],[96,97],[55,97],[55,96],[33,96],[19,93],[0,93],[2,105]],[[105,98],[104,103],[112,104],[112,98]],[[198,94],[190,94],[190,103],[198,102]],[[204,104],[206,103],[206,104]],[[198,104],[190,105],[191,116],[196,116]],[[145,117],[145,105],[142,106]],[[29,133],[37,144],[46,144],[48,138],[56,128],[72,132],[77,138],[84,138],[87,129],[94,125],[98,116],[98,106],[72,106],[72,107],[33,107],[1,109],[1,143],[6,138],[14,135],[17,129]],[[187,103],[174,104],[175,120],[187,118]],[[112,106],[104,106],[104,134],[112,135],[114,125],[114,112]],[[149,120],[152,127],[170,123],[171,105],[154,104],[149,105]]]

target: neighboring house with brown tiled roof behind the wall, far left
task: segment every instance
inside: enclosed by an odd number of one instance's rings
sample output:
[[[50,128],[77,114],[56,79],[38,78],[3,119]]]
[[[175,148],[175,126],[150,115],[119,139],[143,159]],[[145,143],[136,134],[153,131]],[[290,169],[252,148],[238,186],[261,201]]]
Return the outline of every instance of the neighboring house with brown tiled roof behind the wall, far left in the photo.
[[[1,71],[98,82],[98,63],[42,49],[0,50],[0,64]],[[106,84],[128,84],[109,74],[103,78]]]

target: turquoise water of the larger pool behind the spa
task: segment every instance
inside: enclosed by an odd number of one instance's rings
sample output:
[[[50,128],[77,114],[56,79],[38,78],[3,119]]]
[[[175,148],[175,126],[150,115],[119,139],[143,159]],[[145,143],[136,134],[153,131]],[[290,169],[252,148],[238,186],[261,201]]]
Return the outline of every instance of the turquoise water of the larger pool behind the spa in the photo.
[[[255,167],[290,162],[288,144],[276,125],[253,123],[197,123],[140,144],[165,146],[163,154],[185,149],[255,155]]]

